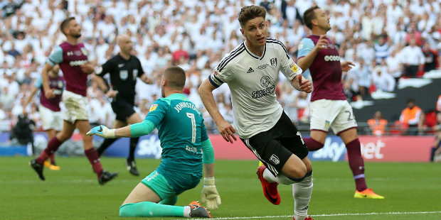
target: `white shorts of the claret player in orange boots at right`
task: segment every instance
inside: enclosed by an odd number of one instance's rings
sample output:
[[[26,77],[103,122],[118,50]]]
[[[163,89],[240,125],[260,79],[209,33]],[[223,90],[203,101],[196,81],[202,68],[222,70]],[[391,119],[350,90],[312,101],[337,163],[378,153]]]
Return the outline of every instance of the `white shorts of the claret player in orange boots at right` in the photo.
[[[352,107],[346,100],[319,99],[312,101],[311,130],[329,131],[339,134],[349,128],[357,127]]]

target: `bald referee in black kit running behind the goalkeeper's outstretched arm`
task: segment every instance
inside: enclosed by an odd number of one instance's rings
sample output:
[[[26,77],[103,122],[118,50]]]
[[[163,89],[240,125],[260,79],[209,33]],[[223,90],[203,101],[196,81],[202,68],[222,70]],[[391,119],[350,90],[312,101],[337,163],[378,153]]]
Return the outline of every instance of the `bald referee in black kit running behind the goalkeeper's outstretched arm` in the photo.
[[[152,84],[152,79],[149,79],[144,73],[138,58],[131,55],[133,43],[129,35],[119,35],[117,44],[119,45],[118,55],[107,60],[102,65],[102,71],[97,74],[98,77],[94,76],[92,79],[97,82],[98,87],[105,92],[107,97],[113,98],[112,109],[117,115],[115,128],[122,128],[127,124],[142,122],[141,116],[134,111],[135,84],[137,83],[137,77],[147,84]],[[110,73],[112,89],[107,87],[103,78],[107,73]],[[98,155],[101,156],[116,140],[115,138],[105,139],[97,150]],[[134,162],[134,150],[137,148],[138,140],[139,138],[130,138],[129,157],[124,161],[127,170],[135,176],[139,175]]]

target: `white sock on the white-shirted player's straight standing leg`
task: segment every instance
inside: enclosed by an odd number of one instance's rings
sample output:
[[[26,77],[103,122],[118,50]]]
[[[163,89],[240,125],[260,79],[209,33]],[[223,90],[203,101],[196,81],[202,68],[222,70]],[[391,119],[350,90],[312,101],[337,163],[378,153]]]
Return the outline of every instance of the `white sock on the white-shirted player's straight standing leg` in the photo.
[[[292,197],[294,197],[294,218],[304,220],[308,216],[308,205],[312,194],[312,174],[304,178],[302,182],[292,185]]]

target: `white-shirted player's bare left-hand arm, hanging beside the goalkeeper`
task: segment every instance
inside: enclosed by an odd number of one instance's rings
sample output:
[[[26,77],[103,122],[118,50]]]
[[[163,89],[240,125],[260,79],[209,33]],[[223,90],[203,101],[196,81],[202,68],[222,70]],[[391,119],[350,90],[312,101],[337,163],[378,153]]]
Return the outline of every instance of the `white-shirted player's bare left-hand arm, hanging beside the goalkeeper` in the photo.
[[[225,121],[225,119],[223,119],[221,112],[218,110],[218,106],[213,97],[214,89],[216,89],[216,87],[211,84],[210,78],[208,78],[199,87],[199,95],[201,96],[203,105],[207,109],[213,121],[218,126],[218,131],[219,133],[221,133],[223,139],[225,139],[225,141],[233,143],[233,140],[237,141],[237,138],[234,135],[236,131],[233,126],[228,123],[228,121]]]

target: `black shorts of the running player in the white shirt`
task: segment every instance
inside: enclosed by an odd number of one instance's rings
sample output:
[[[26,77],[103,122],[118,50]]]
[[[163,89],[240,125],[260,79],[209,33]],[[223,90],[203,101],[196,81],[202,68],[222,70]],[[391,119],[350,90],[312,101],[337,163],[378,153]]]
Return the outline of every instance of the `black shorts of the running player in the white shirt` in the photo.
[[[240,138],[240,140],[276,176],[282,171],[282,167],[292,154],[300,159],[308,155],[302,135],[285,111],[269,131],[257,133],[248,139]]]

